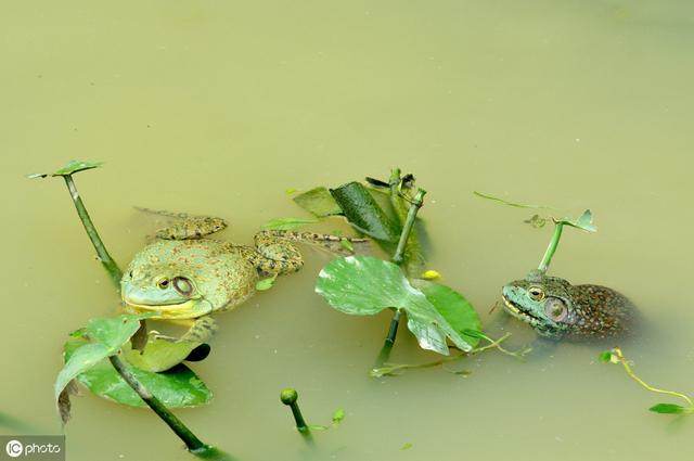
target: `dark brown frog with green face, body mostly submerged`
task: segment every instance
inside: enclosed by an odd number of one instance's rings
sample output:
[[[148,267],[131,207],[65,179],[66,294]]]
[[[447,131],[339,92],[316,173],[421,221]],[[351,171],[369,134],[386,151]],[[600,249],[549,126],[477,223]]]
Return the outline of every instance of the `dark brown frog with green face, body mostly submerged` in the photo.
[[[628,334],[634,323],[633,305],[616,291],[571,285],[540,271],[506,284],[502,296],[509,313],[553,340],[617,337]]]

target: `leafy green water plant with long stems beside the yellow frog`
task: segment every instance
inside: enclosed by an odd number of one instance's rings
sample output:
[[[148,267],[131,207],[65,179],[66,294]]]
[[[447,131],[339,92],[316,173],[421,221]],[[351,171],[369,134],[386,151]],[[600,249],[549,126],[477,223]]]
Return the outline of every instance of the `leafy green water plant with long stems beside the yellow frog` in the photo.
[[[123,271],[99,236],[73,179],[76,172],[99,168],[102,165],[101,162],[70,161],[54,172],[31,174],[27,177],[62,177],[65,180],[79,219],[97,251],[99,260],[114,285],[119,289]],[[190,369],[181,364],[166,374],[152,373],[128,366],[121,360],[126,344],[144,346],[147,343],[145,317],[147,316],[124,315],[117,318],[92,319],[85,329],[77,330],[70,335],[70,340],[65,344],[65,366],[54,385],[55,400],[63,424],[69,419],[69,395],[75,392],[75,380],[77,380],[85,383],[94,394],[120,404],[149,406],[183,440],[193,454],[205,459],[229,460],[227,453],[197,438],[167,408],[195,406],[210,399],[211,395],[205,384]],[[180,354],[180,350],[178,353]],[[190,350],[187,355],[188,353]],[[104,369],[106,359],[113,368]]]

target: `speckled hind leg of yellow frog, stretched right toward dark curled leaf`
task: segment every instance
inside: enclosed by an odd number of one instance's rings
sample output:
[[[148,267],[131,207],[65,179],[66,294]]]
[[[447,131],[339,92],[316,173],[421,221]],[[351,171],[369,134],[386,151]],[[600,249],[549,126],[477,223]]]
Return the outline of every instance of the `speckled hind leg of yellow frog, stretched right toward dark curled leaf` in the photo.
[[[298,271],[304,266],[304,258],[293,242],[318,245],[340,255],[351,255],[354,244],[364,244],[369,241],[316,232],[260,231],[255,235],[257,257],[253,261],[258,271],[267,276]]]

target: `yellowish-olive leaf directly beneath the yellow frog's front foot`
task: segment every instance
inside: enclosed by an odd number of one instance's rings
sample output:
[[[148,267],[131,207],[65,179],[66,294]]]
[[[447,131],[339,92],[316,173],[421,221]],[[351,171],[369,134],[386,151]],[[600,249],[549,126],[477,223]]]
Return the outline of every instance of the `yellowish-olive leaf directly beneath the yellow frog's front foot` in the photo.
[[[142,351],[124,345],[126,360],[133,367],[144,371],[159,372],[168,370],[183,360],[203,343],[193,341],[174,342],[150,335]]]

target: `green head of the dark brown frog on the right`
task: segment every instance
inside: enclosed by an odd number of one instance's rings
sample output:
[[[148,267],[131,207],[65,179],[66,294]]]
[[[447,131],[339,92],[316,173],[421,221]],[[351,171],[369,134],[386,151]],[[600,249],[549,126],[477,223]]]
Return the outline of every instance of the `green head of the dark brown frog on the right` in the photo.
[[[571,284],[564,279],[532,271],[523,280],[504,285],[504,307],[529,323],[540,335],[560,338],[576,322]]]

